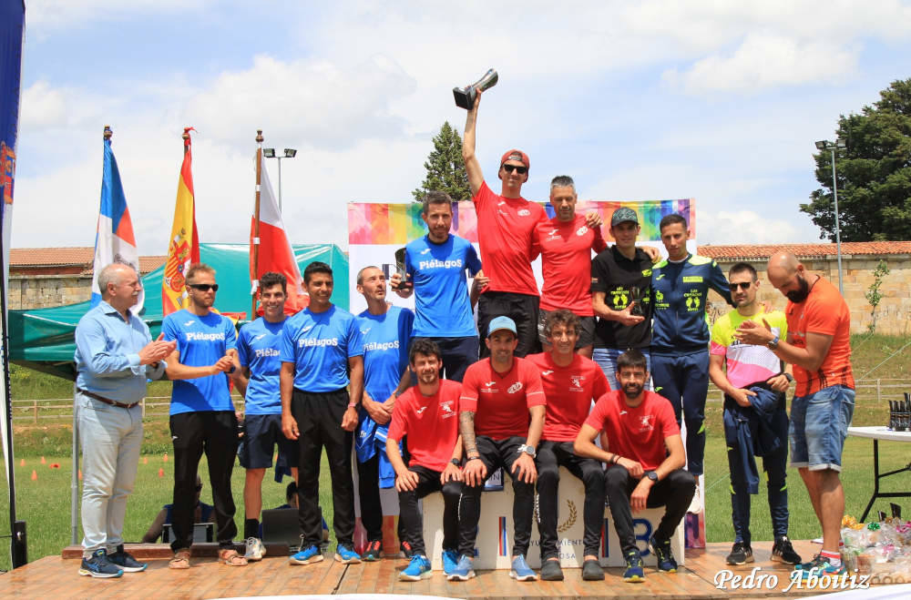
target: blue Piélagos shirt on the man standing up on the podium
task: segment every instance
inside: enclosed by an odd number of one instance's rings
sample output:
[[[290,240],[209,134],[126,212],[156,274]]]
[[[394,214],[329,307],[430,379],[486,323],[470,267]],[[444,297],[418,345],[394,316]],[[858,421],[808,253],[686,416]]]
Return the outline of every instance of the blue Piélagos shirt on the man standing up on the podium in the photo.
[[[471,242],[450,235],[437,244],[424,236],[405,246],[404,263],[415,284],[415,337],[477,335],[466,269],[474,277],[481,269],[481,260]]]

